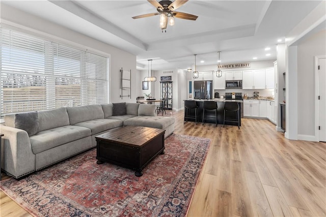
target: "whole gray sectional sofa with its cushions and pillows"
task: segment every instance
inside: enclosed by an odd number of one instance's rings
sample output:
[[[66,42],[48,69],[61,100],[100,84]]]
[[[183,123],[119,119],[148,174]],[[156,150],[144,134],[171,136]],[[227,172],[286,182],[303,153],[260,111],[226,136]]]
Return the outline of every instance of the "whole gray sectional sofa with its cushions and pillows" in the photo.
[[[5,115],[1,125],[2,169],[21,178],[96,146],[95,136],[122,126],[174,131],[173,117],[155,105],[113,103]]]

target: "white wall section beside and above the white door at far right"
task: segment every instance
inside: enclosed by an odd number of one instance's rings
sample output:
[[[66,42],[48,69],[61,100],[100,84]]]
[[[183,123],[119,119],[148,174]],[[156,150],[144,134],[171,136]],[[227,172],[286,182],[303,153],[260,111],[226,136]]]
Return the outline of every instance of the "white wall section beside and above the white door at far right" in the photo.
[[[326,55],[326,30],[300,42],[298,50],[298,134],[315,135],[314,56]]]

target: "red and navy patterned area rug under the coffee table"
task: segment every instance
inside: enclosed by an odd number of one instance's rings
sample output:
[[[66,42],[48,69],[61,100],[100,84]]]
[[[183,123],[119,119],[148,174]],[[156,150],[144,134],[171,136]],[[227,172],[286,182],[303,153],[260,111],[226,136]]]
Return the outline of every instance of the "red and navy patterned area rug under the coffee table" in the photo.
[[[210,139],[173,134],[165,154],[137,177],[113,164],[96,164],[96,148],[1,189],[35,216],[185,216]]]

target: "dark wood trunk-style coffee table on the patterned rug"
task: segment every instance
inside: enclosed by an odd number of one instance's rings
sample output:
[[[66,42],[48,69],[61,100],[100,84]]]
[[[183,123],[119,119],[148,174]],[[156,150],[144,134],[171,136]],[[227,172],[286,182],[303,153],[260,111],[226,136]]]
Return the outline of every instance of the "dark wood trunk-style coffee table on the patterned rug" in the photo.
[[[126,126],[98,135],[96,139],[97,164],[113,163],[135,170],[136,176],[158,154],[164,153],[165,130]]]

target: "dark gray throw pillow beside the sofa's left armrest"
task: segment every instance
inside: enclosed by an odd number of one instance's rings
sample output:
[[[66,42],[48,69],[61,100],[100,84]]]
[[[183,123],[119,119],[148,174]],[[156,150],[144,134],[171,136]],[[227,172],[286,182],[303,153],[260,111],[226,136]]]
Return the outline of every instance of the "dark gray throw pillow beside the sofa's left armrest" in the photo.
[[[29,136],[37,134],[39,128],[37,111],[15,114],[15,128],[26,131]]]

